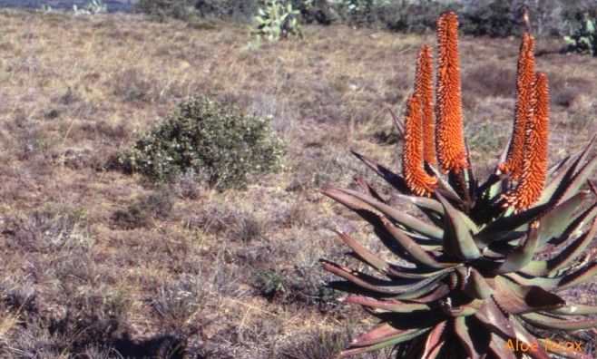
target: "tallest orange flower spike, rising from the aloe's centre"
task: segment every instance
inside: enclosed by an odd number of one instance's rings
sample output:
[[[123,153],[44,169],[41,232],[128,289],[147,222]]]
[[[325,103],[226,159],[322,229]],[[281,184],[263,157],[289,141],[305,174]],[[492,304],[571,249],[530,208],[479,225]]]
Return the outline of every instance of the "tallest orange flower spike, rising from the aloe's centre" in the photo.
[[[437,160],[443,171],[459,173],[468,163],[458,67],[458,16],[454,13],[445,13],[437,20],[437,44]]]

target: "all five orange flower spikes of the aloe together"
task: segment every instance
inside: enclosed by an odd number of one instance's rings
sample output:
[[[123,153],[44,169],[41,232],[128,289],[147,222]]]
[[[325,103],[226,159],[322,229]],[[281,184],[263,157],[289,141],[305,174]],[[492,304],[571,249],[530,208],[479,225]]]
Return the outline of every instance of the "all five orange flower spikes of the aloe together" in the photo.
[[[465,150],[460,71],[458,18],[446,13],[437,21],[436,113],[433,113],[433,59],[422,46],[416,63],[415,94],[408,98],[403,151],[403,174],[408,189],[430,197],[438,179],[425,163],[463,176],[469,164]],[[518,183],[502,195],[504,207],[529,209],[543,193],[547,170],[549,125],[547,77],[534,73],[534,40],[524,34],[516,73],[514,131],[504,163],[497,169]],[[462,177],[464,179],[464,177]],[[464,191],[464,194],[466,191]]]

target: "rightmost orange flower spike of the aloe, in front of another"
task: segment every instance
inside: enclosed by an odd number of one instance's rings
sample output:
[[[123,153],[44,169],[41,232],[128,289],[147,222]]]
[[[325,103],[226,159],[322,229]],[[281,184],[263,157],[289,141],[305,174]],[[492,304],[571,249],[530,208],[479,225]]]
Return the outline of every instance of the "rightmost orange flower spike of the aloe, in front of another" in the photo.
[[[538,73],[533,82],[533,109],[527,117],[523,170],[520,181],[505,196],[505,206],[524,210],[541,198],[547,172],[549,138],[549,91],[547,76]]]

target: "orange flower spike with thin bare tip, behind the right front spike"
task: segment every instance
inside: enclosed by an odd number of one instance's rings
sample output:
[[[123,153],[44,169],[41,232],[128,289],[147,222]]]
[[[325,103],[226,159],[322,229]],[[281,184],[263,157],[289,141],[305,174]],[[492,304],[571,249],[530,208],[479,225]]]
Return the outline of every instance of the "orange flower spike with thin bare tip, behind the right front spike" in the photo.
[[[498,170],[510,174],[512,179],[519,179],[523,171],[524,131],[526,119],[531,110],[531,84],[534,81],[534,40],[525,33],[520,46],[518,70],[516,72],[516,107],[514,111],[514,130],[508,147],[508,155]]]

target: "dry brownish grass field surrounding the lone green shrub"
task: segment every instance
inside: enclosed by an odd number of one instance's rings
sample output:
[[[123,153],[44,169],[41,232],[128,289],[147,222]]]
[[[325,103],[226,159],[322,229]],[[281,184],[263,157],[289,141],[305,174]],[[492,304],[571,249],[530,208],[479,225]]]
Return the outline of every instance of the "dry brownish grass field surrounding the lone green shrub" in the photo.
[[[249,40],[234,25],[0,12],[3,357],[330,358],[371,325],[318,266],[346,249],[329,228],[367,228],[318,188],[369,178],[348,149],[397,167],[377,134],[434,37],[309,27],[304,42],[241,51]],[[461,43],[465,131],[485,171],[510,135],[518,40]],[[537,59],[552,160],[595,130],[594,61]],[[273,115],[285,169],[225,193],[106,170],[188,95]]]

